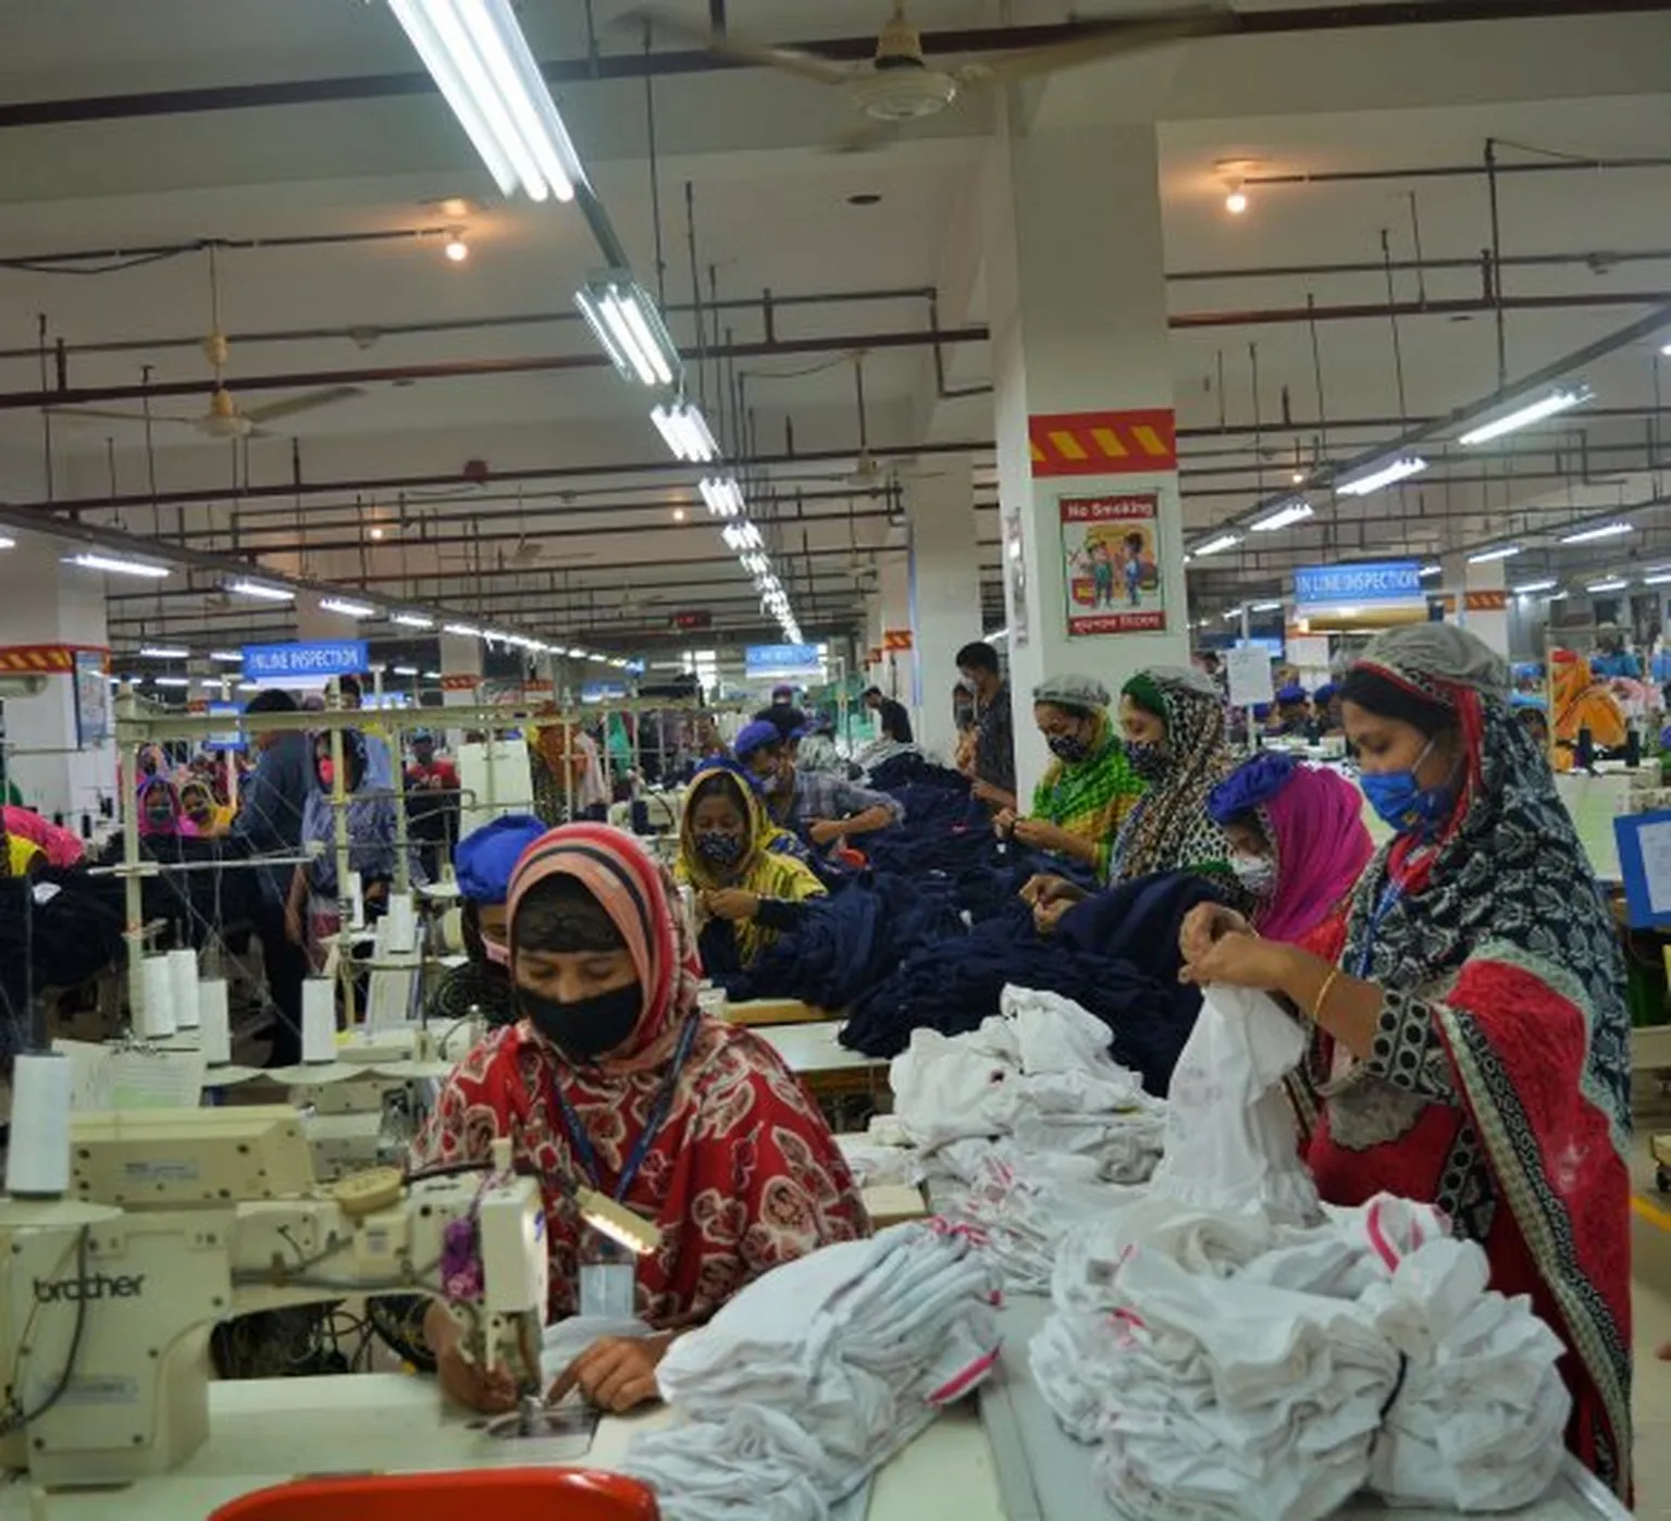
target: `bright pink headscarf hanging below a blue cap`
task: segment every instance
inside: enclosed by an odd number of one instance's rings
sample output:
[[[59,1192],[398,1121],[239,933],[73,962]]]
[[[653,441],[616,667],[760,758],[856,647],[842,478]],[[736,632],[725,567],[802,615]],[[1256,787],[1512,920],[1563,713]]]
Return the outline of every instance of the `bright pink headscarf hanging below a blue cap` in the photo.
[[[1338,772],[1300,766],[1260,811],[1277,849],[1277,894],[1257,916],[1258,933],[1298,941],[1345,901],[1375,854],[1364,794]]]

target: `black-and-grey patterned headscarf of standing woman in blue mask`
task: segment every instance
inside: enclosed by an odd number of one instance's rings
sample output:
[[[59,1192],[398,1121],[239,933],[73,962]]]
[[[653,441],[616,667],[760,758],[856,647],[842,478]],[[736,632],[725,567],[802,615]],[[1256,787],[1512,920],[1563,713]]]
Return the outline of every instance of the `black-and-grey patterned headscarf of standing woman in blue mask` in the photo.
[[[1569,996],[1589,1023],[1584,1093],[1628,1147],[1631,1026],[1619,941],[1549,764],[1509,709],[1507,667],[1450,623],[1384,633],[1359,665],[1455,714],[1465,774],[1437,844],[1420,849],[1400,836],[1364,872],[1345,968],[1355,971],[1367,946],[1375,981],[1432,986],[1494,941],[1572,983]],[[1372,936],[1389,883],[1399,896]]]

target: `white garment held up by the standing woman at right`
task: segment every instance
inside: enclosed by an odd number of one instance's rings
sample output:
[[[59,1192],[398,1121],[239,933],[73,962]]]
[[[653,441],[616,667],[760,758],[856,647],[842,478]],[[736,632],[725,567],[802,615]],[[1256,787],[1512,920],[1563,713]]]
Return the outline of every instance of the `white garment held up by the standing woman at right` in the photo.
[[[1206,1210],[1315,1220],[1317,1185],[1282,1090],[1303,1053],[1305,1031],[1270,996],[1208,988],[1171,1075],[1153,1190]]]

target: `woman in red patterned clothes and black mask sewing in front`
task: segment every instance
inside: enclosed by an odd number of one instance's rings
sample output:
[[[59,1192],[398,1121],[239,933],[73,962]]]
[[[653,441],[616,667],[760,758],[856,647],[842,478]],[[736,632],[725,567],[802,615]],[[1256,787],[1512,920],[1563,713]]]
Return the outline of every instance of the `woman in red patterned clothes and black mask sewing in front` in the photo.
[[[698,1010],[685,914],[638,841],[600,824],[543,836],[511,878],[510,926],[521,1018],[448,1078],[411,1170],[483,1163],[511,1138],[545,1182],[551,1319],[637,1314],[657,1332],[593,1342],[553,1394],[628,1411],[657,1397],[675,1335],[760,1274],[864,1237],[864,1203],[772,1048]],[[575,1180],[660,1225],[662,1249],[623,1257],[580,1220]],[[439,1300],[424,1337],[453,1399],[515,1406],[503,1371],[465,1361]]]

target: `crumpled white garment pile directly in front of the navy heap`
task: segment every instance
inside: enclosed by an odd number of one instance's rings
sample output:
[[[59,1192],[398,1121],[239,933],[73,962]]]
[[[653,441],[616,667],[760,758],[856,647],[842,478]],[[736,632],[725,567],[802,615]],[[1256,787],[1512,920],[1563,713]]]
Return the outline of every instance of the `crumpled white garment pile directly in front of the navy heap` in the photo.
[[[1021,1152],[1084,1155],[1105,1182],[1138,1183],[1160,1157],[1165,1105],[1110,1055],[1108,1026],[1054,993],[1006,988],[1003,1015],[968,1035],[914,1030],[894,1058],[894,1115],[924,1152],[1008,1137]],[[947,1160],[969,1177],[981,1150]]]

